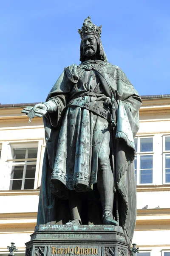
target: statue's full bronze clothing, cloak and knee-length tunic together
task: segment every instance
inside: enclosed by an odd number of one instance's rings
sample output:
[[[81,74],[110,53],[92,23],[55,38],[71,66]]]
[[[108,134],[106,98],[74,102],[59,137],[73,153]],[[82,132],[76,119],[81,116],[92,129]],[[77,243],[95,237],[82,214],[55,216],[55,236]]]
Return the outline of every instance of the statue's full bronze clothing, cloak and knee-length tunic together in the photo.
[[[118,103],[116,135],[111,130],[110,110],[102,99],[112,95]],[[59,200],[54,196],[67,199],[69,189],[78,192],[93,189],[98,154],[106,131],[110,131],[111,158],[113,151],[116,158],[114,180],[120,226],[130,242],[136,223],[133,138],[139,129],[141,106],[137,91],[119,67],[104,61],[85,61],[65,68],[48,99],[56,102],[57,111],[44,117],[47,146],[37,224],[57,222],[55,207]]]

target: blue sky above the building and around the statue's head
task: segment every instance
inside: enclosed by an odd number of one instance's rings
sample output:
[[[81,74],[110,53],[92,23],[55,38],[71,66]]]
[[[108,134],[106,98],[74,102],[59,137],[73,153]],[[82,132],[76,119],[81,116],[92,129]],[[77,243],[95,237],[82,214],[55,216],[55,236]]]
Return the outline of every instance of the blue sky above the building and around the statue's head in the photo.
[[[79,64],[88,15],[140,95],[170,94],[169,0],[1,0],[1,104],[45,101],[63,68]]]

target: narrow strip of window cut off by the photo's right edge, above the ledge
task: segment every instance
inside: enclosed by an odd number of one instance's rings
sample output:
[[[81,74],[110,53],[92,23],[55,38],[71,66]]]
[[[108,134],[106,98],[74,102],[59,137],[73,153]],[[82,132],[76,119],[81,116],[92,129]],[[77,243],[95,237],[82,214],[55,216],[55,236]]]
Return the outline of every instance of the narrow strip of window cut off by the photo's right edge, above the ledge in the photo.
[[[164,183],[170,183],[170,136],[163,137]]]

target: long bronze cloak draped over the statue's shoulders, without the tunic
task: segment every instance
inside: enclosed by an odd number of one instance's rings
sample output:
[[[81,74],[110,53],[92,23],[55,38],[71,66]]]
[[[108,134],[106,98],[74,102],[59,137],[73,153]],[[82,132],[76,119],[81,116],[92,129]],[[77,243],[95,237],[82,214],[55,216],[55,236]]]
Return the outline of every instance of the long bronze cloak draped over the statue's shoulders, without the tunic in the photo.
[[[70,101],[70,91],[79,81],[85,69],[93,69],[103,85],[105,96],[114,95],[118,103],[116,135],[113,134],[114,156],[116,170],[116,196],[119,202],[119,225],[122,226],[127,242],[131,244],[136,224],[136,178],[134,172],[135,145],[134,137],[139,129],[139,108],[142,100],[125,73],[115,65],[104,61],[85,61],[80,65],[73,64],[65,68],[47,100],[57,96],[57,111],[43,117],[45,127],[46,150],[42,168],[42,181],[38,207],[38,224],[62,224],[58,221],[57,209],[62,208],[57,198],[67,199],[68,189],[61,183],[56,189],[51,184],[51,173],[54,167],[59,132],[67,104]],[[116,145],[116,146],[115,146]],[[113,143],[112,143],[113,147]],[[112,166],[113,167],[113,166]],[[56,197],[54,197],[54,195]],[[68,221],[67,217],[65,219]]]

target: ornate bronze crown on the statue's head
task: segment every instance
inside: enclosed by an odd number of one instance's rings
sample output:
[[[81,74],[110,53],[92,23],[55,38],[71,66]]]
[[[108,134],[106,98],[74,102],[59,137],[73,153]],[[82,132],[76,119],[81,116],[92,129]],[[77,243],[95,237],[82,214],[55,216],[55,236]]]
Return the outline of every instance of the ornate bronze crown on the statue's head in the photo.
[[[99,37],[101,36],[102,25],[98,27],[90,19],[91,17],[88,16],[82,24],[82,29],[78,29],[81,38],[83,37],[83,35],[88,34],[98,35]]]

